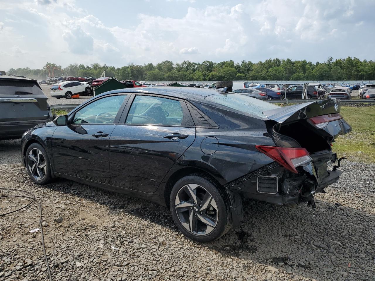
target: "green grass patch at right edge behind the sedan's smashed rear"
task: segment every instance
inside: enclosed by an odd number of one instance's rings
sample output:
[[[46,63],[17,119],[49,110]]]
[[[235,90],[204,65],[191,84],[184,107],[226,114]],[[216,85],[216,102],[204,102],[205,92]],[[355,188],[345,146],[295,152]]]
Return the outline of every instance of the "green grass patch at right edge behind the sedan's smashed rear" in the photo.
[[[353,131],[339,136],[333,143],[333,151],[339,157],[375,163],[375,106],[341,106],[340,114]]]

